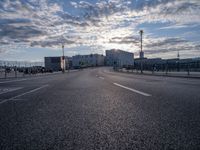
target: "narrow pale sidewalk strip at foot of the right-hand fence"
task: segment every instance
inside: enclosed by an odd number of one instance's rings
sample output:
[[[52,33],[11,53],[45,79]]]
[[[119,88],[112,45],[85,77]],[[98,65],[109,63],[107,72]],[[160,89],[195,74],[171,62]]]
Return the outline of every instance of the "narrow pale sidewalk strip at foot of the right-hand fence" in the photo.
[[[125,70],[120,69],[119,72],[124,73],[134,73],[134,74],[141,74],[140,70]],[[199,78],[200,79],[200,72],[157,72],[157,71],[143,71],[143,75],[153,75],[153,76],[167,76],[167,77],[181,77],[181,78]]]

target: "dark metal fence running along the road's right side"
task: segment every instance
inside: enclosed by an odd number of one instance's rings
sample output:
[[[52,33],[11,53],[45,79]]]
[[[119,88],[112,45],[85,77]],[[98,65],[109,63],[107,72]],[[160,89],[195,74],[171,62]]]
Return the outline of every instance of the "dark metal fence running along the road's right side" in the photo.
[[[116,71],[127,71],[136,73],[160,74],[160,75],[195,75],[200,76],[200,61],[149,63],[138,61],[134,65],[114,66]]]

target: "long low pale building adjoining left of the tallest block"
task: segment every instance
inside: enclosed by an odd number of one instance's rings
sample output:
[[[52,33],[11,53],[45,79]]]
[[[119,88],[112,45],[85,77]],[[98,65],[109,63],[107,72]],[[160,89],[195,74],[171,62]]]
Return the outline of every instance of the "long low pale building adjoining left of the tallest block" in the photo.
[[[104,66],[105,56],[100,54],[76,55],[72,57],[73,68]]]

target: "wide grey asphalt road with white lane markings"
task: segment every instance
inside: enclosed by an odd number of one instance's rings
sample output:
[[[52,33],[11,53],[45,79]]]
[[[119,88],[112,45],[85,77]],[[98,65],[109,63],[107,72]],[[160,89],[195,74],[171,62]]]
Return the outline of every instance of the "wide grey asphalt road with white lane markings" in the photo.
[[[0,80],[0,149],[200,149],[200,80],[110,68]]]

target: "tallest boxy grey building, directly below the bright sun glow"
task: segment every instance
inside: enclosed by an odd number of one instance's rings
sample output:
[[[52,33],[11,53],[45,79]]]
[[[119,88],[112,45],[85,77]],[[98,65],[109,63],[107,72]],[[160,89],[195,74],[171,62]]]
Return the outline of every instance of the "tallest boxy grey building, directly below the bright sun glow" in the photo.
[[[107,66],[128,66],[134,65],[134,54],[122,50],[106,50]]]

